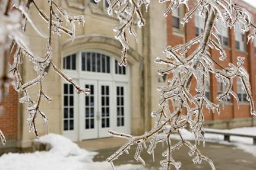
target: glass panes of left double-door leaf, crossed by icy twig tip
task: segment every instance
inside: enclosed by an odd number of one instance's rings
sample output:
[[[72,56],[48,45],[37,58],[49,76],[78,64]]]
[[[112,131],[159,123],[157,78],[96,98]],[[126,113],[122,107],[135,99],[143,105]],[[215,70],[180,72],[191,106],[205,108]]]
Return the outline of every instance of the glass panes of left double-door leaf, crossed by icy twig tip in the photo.
[[[91,93],[85,96],[85,129],[94,129],[94,85],[86,85],[86,88],[89,86]]]

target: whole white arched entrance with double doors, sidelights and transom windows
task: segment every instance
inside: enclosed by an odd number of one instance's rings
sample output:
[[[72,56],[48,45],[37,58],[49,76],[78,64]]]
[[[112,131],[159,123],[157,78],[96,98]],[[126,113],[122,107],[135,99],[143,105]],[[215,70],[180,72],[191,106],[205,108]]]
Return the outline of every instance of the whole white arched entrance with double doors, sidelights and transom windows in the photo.
[[[77,95],[63,82],[63,133],[72,140],[108,137],[108,130],[129,133],[129,68],[113,54],[84,50],[62,60],[64,72],[90,95]]]

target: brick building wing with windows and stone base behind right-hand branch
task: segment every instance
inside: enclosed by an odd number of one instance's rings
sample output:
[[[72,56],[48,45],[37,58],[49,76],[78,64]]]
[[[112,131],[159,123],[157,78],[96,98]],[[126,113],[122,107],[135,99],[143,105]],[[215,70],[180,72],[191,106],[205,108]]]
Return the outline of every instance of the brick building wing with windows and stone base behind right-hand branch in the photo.
[[[193,1],[189,1],[189,5],[194,7]],[[247,9],[256,21],[256,9],[243,1],[236,1],[236,3]],[[185,43],[203,31],[204,21],[200,20],[199,15],[194,15],[185,27],[181,25],[180,21],[184,17],[187,8],[182,6],[176,11],[172,12],[172,15],[167,17],[167,44],[170,46],[176,46],[181,43]],[[248,33],[242,34],[239,29],[236,31],[234,28],[228,29],[224,24],[218,23],[219,38],[222,41],[222,45],[225,47],[227,53],[227,59],[224,62],[220,61],[222,66],[227,66],[228,63],[236,63],[238,56],[245,57],[244,67],[248,70],[250,75],[250,82],[252,88],[252,95],[254,101],[256,101],[256,41],[254,43],[247,43]],[[194,47],[192,46],[189,52],[192,52]],[[188,53],[189,53],[188,52]],[[210,49],[215,60],[219,60],[219,51]],[[195,80],[192,81],[192,86],[195,86]],[[214,78],[214,75],[210,75],[210,86],[206,95],[211,101],[217,103],[217,95],[223,90],[223,84],[220,84]],[[206,120],[206,126],[216,128],[232,128],[232,127],[243,127],[243,126],[255,126],[255,118],[249,113],[249,102],[246,101],[246,94],[241,88],[241,82],[236,79],[233,82],[233,91],[238,94],[240,105],[238,106],[235,98],[230,98],[227,101],[225,108],[221,108],[221,114],[212,113],[204,108],[204,118]],[[193,89],[193,88],[192,88]]]

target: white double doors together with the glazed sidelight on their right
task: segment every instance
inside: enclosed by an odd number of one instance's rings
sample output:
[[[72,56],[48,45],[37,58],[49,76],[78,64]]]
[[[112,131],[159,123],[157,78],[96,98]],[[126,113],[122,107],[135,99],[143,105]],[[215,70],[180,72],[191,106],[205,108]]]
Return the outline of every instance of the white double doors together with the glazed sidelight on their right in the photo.
[[[84,80],[89,95],[80,95],[80,140],[108,137],[108,130],[127,131],[127,85],[111,81]]]

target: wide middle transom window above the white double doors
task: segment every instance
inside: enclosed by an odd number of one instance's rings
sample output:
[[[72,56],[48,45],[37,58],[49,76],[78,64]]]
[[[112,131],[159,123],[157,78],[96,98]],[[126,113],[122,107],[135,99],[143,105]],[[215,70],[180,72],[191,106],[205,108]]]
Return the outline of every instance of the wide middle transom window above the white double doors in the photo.
[[[83,52],[82,70],[87,72],[110,73],[110,57],[100,53]]]

